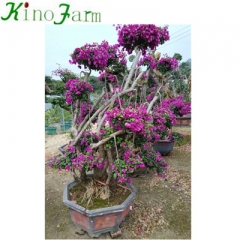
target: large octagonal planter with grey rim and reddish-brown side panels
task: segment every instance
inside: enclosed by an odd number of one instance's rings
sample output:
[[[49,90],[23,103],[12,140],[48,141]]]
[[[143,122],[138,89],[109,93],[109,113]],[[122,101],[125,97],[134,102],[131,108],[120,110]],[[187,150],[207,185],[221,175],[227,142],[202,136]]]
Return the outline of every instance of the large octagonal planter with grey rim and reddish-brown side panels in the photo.
[[[69,191],[77,185],[72,181],[64,186],[63,203],[69,208],[72,221],[81,229],[86,231],[91,237],[99,237],[100,234],[119,231],[119,225],[127,216],[136,196],[136,189],[133,185],[127,184],[132,193],[121,204],[112,207],[86,210],[84,207],[70,200]]]

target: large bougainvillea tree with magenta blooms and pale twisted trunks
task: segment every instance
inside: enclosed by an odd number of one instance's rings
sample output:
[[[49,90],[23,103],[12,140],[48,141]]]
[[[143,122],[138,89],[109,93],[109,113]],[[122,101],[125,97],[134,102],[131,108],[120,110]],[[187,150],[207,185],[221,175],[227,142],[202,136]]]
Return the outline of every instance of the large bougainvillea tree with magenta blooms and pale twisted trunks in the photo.
[[[152,144],[173,137],[170,129],[179,106],[181,114],[190,109],[182,98],[164,99],[170,80],[165,74],[178,66],[177,59],[155,52],[170,39],[168,27],[117,25],[116,31],[117,44],[85,44],[71,54],[70,64],[76,64],[84,76],[65,84],[73,139],[65,155],[51,163],[71,170],[82,184],[93,179],[102,182],[102,198],[110,197],[111,181],[131,183],[131,173],[137,169],[147,167],[166,176],[167,164]],[[127,59],[132,61],[130,69]],[[92,70],[99,72],[103,86],[95,101],[90,98],[94,86],[88,82]],[[89,171],[93,171],[91,180]]]

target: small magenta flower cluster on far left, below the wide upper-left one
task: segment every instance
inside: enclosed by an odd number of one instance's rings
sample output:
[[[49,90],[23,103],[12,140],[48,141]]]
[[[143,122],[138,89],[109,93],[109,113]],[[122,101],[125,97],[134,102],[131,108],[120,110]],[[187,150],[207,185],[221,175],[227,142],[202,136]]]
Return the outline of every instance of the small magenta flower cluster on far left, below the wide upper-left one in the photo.
[[[79,81],[78,79],[69,79],[66,82],[65,89],[67,89],[65,94],[66,103],[71,104],[76,99],[81,99],[84,95],[86,96],[88,92],[92,92],[93,86],[85,81]]]

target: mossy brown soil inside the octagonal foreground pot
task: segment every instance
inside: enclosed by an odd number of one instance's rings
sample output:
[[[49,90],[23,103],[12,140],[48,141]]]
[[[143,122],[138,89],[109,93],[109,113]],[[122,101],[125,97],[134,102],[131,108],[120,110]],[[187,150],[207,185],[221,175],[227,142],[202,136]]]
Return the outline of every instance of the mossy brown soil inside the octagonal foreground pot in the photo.
[[[81,205],[88,210],[112,207],[116,205],[121,205],[127,197],[131,194],[130,189],[126,185],[114,184],[110,186],[111,196],[105,200],[98,196],[93,195],[91,201],[88,204],[88,200],[84,198],[86,194],[86,188],[80,184],[77,184],[70,190],[70,199],[76,201],[78,205]],[[85,195],[86,196],[86,195]]]

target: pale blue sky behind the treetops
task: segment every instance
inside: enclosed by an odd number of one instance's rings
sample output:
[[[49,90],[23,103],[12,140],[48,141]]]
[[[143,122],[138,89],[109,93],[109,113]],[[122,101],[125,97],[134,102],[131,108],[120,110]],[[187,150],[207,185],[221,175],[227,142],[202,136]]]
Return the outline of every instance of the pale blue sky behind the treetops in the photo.
[[[156,24],[164,26],[166,24]],[[182,61],[191,58],[191,24],[167,24],[169,25],[170,40],[163,45],[159,45],[157,51],[173,56],[174,53],[182,55]],[[58,68],[58,64],[63,68],[68,68],[75,73],[79,72],[76,65],[71,65],[68,61],[70,54],[75,48],[86,43],[103,40],[110,44],[116,44],[117,31],[112,24],[92,24],[92,25],[45,25],[45,74],[51,76],[53,70]],[[93,75],[97,75],[93,72]],[[58,77],[54,76],[54,79]]]

